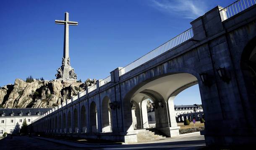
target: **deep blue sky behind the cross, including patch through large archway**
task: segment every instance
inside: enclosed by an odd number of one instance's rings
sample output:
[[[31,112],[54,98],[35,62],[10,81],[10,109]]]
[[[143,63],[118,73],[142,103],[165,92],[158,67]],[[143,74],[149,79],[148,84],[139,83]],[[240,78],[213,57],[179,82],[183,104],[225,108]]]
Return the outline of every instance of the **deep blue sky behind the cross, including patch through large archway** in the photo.
[[[0,3],[0,86],[16,78],[55,79],[63,55],[69,12],[70,58],[78,79],[104,79],[179,33],[217,5],[234,0],[2,0]],[[175,104],[201,103],[198,86]]]

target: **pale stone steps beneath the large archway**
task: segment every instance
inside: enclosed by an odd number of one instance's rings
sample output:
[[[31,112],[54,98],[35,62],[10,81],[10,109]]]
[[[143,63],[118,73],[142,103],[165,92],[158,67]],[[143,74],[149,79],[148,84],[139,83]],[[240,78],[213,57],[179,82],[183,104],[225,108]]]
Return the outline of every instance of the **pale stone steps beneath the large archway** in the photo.
[[[137,131],[138,142],[164,140],[166,137],[164,134],[162,134],[162,132],[159,132],[156,128],[137,129]]]

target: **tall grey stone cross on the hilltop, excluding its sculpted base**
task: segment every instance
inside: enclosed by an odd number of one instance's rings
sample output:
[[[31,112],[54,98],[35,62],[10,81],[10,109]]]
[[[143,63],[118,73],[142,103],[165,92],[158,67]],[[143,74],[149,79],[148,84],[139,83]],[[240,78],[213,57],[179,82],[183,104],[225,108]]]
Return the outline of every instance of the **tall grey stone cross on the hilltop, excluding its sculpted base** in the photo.
[[[56,24],[62,24],[65,25],[64,30],[64,47],[63,47],[63,66],[70,65],[69,64],[69,33],[68,33],[68,27],[69,25],[78,25],[78,22],[69,21],[68,19],[68,12],[65,12],[65,20],[55,20]]]

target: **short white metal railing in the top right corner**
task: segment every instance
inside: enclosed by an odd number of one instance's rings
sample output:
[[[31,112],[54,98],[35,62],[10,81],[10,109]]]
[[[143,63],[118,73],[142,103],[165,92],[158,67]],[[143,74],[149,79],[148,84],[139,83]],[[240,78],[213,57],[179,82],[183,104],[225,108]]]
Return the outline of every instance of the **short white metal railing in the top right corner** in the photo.
[[[256,0],[237,0],[230,4],[226,8],[219,10],[221,20],[227,20],[228,18],[240,13],[241,11],[256,4]]]

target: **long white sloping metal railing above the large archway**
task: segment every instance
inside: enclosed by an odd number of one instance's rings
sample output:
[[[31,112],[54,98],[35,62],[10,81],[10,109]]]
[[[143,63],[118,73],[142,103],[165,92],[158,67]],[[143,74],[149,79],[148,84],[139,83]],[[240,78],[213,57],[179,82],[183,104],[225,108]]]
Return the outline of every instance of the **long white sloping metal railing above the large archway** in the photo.
[[[187,31],[179,34],[175,38],[172,38],[170,41],[167,41],[166,43],[162,44],[161,46],[155,48],[153,51],[150,51],[146,55],[142,56],[141,58],[138,58],[136,61],[133,61],[131,64],[128,64],[127,66],[120,69],[119,76],[135,69],[138,66],[141,66],[142,64],[146,63],[147,61],[150,61],[151,59],[161,55],[162,53],[165,53],[166,51],[170,50],[171,48],[174,48],[175,46],[180,45],[181,43],[187,41],[188,39],[190,39],[192,37],[193,37],[193,30],[192,30],[192,28],[189,28]]]

